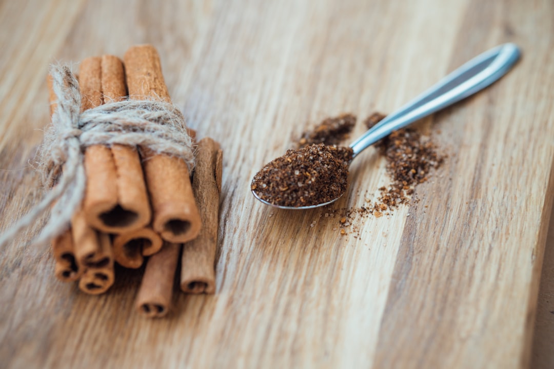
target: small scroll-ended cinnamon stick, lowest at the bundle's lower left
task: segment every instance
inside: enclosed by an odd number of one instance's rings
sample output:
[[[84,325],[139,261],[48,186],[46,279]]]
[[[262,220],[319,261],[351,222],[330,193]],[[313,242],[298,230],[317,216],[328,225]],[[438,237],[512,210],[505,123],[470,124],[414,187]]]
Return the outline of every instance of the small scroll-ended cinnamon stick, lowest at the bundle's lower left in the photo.
[[[111,255],[110,235],[99,233],[93,230],[98,237],[98,242],[102,250],[106,250]],[[89,266],[85,269],[83,276],[79,280],[79,289],[91,295],[104,293],[109,289],[115,280],[114,259],[107,258],[105,264]]]

